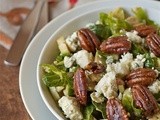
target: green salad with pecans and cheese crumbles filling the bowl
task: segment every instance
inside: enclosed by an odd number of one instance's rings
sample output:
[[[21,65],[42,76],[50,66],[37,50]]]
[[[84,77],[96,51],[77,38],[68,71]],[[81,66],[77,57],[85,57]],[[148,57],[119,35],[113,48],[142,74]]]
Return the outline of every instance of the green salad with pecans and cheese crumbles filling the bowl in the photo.
[[[101,12],[57,40],[42,81],[71,120],[160,119],[160,26],[145,9]]]

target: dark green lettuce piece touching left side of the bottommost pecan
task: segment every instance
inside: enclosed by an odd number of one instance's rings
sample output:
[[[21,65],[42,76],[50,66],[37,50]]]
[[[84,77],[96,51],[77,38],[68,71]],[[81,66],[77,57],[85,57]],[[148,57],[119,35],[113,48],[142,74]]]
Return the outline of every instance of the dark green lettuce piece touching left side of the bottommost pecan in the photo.
[[[92,104],[94,105],[94,107],[96,108],[97,111],[101,112],[103,119],[106,119],[107,118],[106,102],[96,103],[96,102],[92,101]]]

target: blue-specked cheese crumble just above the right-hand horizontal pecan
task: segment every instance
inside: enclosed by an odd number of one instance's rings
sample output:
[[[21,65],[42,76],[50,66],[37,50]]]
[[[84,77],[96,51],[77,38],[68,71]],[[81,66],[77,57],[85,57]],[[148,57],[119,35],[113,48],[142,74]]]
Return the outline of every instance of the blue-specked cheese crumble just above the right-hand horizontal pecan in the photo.
[[[131,69],[137,69],[137,68],[143,68],[144,62],[146,61],[146,58],[144,55],[137,55],[134,61],[131,63]]]

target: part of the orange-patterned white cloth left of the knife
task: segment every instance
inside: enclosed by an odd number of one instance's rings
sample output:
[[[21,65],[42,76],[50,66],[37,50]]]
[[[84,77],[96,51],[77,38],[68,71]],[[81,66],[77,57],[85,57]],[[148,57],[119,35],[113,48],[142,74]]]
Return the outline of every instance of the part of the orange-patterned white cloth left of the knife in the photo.
[[[0,45],[9,49],[34,0],[0,0]]]

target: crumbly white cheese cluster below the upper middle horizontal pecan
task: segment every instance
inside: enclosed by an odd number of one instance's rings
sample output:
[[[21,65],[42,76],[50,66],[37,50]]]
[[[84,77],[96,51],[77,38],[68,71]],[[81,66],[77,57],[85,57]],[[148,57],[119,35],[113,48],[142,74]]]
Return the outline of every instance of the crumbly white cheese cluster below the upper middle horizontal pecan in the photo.
[[[107,72],[114,71],[116,74],[127,75],[130,72],[130,64],[133,61],[133,54],[126,53],[121,56],[119,62],[107,64]]]

